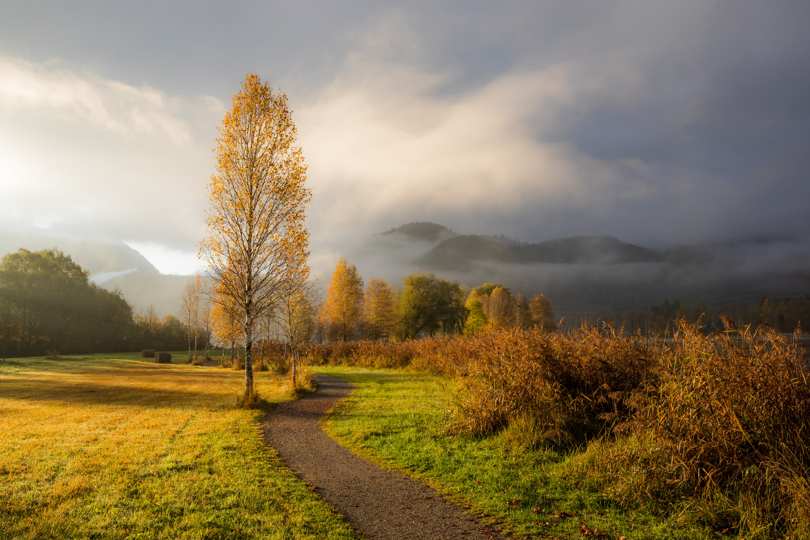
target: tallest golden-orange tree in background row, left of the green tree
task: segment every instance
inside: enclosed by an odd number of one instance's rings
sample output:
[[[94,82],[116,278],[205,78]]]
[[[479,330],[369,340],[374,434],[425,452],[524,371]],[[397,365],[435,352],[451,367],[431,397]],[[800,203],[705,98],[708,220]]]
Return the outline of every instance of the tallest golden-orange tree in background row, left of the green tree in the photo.
[[[326,289],[326,301],[318,318],[330,341],[351,341],[355,338],[363,300],[363,279],[357,268],[341,258]]]

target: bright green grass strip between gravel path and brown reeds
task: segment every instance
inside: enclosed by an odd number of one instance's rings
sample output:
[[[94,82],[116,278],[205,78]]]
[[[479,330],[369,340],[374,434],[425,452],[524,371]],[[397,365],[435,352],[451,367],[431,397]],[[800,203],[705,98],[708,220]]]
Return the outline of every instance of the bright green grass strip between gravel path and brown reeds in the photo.
[[[327,418],[332,436],[371,461],[415,474],[471,504],[489,521],[505,523],[509,534],[575,538],[584,523],[607,531],[609,538],[628,540],[716,536],[682,525],[677,517],[620,507],[595,481],[569,476],[577,452],[515,448],[508,432],[478,439],[445,436],[441,426],[451,407],[453,381],[444,377],[336,366],[316,371],[359,386]]]

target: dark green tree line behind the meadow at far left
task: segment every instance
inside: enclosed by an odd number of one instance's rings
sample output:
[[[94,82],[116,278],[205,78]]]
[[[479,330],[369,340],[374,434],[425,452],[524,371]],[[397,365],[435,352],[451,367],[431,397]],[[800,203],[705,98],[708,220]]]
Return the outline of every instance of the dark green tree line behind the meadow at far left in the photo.
[[[120,289],[92,283],[90,273],[58,249],[8,253],[0,261],[0,355],[179,351],[187,345],[191,355],[194,343],[207,350],[211,325],[202,285],[190,283],[180,317],[161,318],[152,306],[134,312]],[[189,299],[190,289],[196,296]]]

